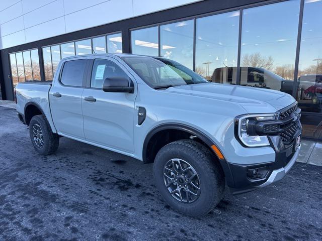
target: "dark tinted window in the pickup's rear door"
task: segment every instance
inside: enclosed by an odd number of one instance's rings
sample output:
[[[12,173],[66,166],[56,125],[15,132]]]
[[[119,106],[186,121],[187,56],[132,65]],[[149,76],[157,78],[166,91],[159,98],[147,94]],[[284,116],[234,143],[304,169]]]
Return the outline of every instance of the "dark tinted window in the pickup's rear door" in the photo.
[[[62,70],[60,82],[68,86],[83,87],[83,77],[87,59],[66,61]]]

